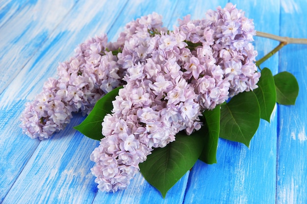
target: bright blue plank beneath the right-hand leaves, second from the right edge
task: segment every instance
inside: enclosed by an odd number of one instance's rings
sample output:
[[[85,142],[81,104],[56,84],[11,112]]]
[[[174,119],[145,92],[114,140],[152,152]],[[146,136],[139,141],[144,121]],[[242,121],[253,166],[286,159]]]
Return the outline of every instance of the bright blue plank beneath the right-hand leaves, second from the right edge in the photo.
[[[279,34],[279,3],[235,0],[238,9],[254,19],[256,30]],[[222,7],[224,5],[221,5]],[[259,8],[259,9],[256,9]],[[277,43],[255,37],[256,50],[263,56]],[[258,57],[258,58],[259,58]],[[273,73],[278,69],[278,55],[266,62]],[[184,204],[273,204],[276,188],[276,110],[271,123],[261,120],[250,148],[219,139],[217,163],[198,161],[192,168]]]

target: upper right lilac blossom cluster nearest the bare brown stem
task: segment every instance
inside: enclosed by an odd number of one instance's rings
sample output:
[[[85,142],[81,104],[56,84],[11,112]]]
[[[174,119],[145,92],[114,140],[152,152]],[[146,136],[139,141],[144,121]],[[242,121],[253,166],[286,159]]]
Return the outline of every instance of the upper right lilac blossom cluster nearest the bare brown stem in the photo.
[[[209,10],[206,19],[179,21],[186,40],[199,45],[185,65],[184,75],[191,80],[204,109],[213,109],[229,97],[257,88],[257,52],[252,45],[256,34],[253,20],[228,3],[224,9]]]

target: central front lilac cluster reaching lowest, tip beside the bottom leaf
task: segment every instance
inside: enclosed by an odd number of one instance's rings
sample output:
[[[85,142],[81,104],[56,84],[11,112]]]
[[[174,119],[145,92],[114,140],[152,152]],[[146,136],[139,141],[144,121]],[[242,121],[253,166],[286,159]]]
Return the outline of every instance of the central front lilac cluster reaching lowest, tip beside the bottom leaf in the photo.
[[[102,122],[105,137],[91,155],[100,189],[126,188],[153,147],[165,147],[180,130],[191,134],[201,128],[197,95],[179,66],[187,51],[183,39],[173,33],[155,35],[149,39],[153,51],[146,50],[152,57],[127,69],[127,84]]]

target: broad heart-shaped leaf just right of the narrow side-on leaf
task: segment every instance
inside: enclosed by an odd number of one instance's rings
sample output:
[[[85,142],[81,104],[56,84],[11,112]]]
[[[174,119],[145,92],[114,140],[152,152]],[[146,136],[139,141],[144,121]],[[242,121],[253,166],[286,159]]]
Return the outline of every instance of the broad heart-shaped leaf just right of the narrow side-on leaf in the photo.
[[[220,137],[249,146],[258,129],[260,107],[253,91],[239,93],[221,106]]]

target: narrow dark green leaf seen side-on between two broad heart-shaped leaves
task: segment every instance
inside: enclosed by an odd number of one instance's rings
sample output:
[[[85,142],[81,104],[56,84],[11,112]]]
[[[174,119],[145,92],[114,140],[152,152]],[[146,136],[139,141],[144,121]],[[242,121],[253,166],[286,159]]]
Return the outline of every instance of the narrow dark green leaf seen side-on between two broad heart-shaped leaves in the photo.
[[[205,146],[199,159],[207,164],[213,164],[216,163],[216,151],[220,134],[220,106],[215,107],[211,111],[205,111],[203,115],[205,117],[205,124],[199,132],[205,138]]]

